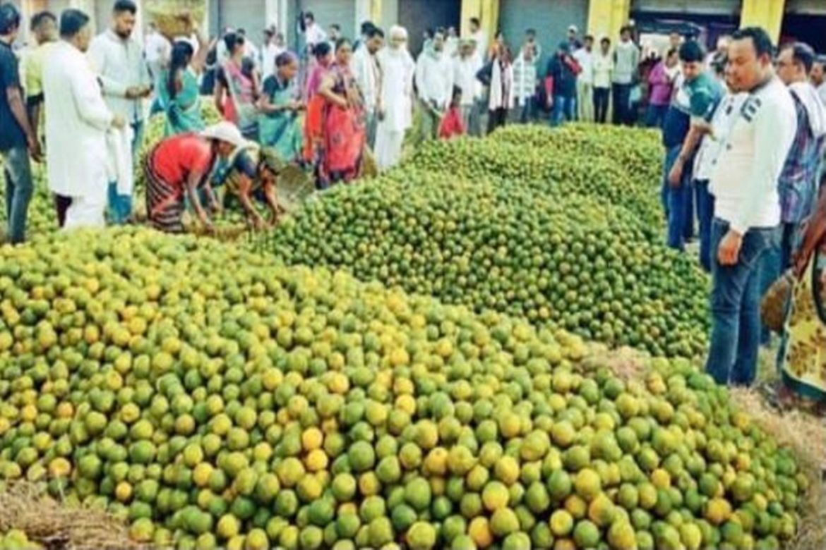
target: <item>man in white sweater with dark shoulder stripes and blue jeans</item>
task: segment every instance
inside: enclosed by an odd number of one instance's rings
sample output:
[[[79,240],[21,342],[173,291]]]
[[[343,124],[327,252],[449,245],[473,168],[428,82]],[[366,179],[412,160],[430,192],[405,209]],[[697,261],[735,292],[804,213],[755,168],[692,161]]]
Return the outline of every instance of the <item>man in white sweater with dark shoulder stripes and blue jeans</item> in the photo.
[[[735,32],[726,74],[746,92],[713,162],[711,227],[712,331],[706,371],[717,383],[748,386],[760,345],[760,269],[777,245],[781,222],[777,178],[795,139],[795,105],[772,68],[771,40],[759,27]]]

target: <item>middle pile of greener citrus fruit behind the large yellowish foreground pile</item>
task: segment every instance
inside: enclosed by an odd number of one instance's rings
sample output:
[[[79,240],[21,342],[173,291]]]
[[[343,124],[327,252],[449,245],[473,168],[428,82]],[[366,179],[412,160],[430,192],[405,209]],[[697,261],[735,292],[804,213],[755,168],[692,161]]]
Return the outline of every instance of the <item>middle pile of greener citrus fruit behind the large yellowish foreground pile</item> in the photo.
[[[259,245],[653,355],[704,353],[707,281],[621,206],[406,169],[306,204]]]

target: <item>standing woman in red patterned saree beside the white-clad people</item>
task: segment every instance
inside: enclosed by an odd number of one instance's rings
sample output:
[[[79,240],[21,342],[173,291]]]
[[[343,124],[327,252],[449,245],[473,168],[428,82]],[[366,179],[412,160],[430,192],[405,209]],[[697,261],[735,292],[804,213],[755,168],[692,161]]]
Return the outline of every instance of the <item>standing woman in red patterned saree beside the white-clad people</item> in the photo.
[[[335,63],[321,80],[319,96],[324,97],[323,147],[318,164],[319,186],[352,181],[361,167],[367,125],[364,101],[350,72],[353,45],[346,38],[335,43]]]

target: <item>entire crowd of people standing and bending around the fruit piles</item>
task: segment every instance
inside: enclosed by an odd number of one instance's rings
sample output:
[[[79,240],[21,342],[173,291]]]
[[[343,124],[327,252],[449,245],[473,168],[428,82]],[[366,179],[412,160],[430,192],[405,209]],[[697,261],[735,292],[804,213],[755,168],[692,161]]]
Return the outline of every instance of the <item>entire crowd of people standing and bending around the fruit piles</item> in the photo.
[[[601,37],[598,47],[571,26],[542,71],[536,31],[525,32],[514,56],[501,33],[488,42],[476,18],[467,37],[452,27],[428,31],[414,59],[401,26],[385,40],[365,21],[351,41],[304,12],[306,48],[292,52],[274,28],[256,47],[242,29],[207,40],[192,21],[191,37],[150,26],[141,44],[136,13],[132,0],[116,0],[111,26],[95,37],[80,10],[59,20],[37,14],[21,71],[12,49],[21,16],[10,2],[0,5],[0,156],[12,243],[25,239],[30,157],[40,161],[44,150],[61,227],[130,221],[133,163],[152,113],[164,115],[165,127],[142,167],[147,215],[180,232],[186,209],[211,226],[210,211],[222,208],[216,186],[263,227],[278,218],[274,190],[287,165],[311,173],[320,189],[354,180],[371,151],[387,170],[400,160],[415,111],[417,139],[449,139],[542,118],[605,123],[609,112],[615,124],[634,125],[642,105],[641,122],[662,129],[667,244],[682,251],[696,223],[700,263],[712,276],[706,368],[714,378],[753,382],[765,340],[760,299],[782,272],[803,280],[815,270],[802,299],[826,294],[826,82],[824,59],[808,45],[775,52],[765,31],[746,28],[710,54],[675,34],[662,56],[641,59],[630,26],[616,45]],[[223,121],[205,124],[204,96]],[[255,200],[268,207],[268,221]],[[784,380],[823,400],[824,305],[791,304],[789,312],[778,356]],[[800,351],[813,341],[819,352]]]

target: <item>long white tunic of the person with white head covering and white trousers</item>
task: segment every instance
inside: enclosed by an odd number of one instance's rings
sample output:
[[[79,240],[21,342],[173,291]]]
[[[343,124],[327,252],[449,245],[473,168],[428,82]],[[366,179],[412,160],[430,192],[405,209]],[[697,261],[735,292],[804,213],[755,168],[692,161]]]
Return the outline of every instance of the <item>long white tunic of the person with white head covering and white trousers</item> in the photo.
[[[384,48],[376,54],[382,72],[381,90],[384,119],[379,126],[390,132],[402,132],[411,127],[411,96],[415,63],[406,49]]]

